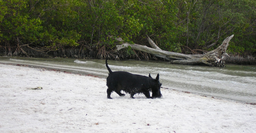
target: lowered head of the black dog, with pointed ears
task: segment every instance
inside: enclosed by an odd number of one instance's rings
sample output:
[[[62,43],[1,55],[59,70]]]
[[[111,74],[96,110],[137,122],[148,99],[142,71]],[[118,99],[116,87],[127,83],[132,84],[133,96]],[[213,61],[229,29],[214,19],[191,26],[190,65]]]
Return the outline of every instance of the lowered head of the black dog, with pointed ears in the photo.
[[[150,74],[149,74],[149,77],[151,77]],[[161,98],[162,94],[161,94],[160,88],[161,88],[162,84],[159,82],[159,74],[157,74],[156,79],[153,82],[154,83],[153,83],[153,87],[152,87],[152,97]]]

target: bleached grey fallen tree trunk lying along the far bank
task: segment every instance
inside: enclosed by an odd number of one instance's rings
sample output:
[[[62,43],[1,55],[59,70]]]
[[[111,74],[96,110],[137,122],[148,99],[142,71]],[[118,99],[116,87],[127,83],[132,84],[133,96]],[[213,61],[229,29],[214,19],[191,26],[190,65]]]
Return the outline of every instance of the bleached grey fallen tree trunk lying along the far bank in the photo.
[[[181,54],[175,52],[169,52],[161,50],[154,42],[148,37],[148,43],[150,47],[138,45],[138,44],[129,44],[129,43],[122,43],[121,45],[116,45],[116,51],[119,51],[123,48],[130,47],[131,49],[147,52],[153,54],[157,57],[161,57],[167,59],[172,64],[182,64],[182,65],[208,65],[208,66],[215,66],[215,67],[225,67],[224,57],[228,56],[225,52],[229,45],[230,39],[233,37],[229,36],[224,39],[223,43],[215,50],[207,52],[205,54],[200,55],[188,55],[188,54]],[[117,38],[118,41],[122,42],[121,38]]]

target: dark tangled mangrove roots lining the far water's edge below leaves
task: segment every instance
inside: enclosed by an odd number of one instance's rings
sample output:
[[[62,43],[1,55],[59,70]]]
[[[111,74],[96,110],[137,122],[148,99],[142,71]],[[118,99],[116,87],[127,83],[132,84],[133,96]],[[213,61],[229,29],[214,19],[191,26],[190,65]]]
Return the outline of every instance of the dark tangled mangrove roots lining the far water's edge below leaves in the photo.
[[[8,52],[7,52],[8,51]],[[29,47],[22,47],[22,50],[17,52],[16,48],[0,49],[0,56],[20,56],[20,57],[34,57],[34,58],[78,58],[78,59],[105,59],[107,56],[110,60],[163,60],[166,59],[155,57],[152,54],[122,49],[114,52],[113,49],[106,49],[105,46],[88,47],[83,45],[81,47],[63,47],[59,50],[43,52]],[[226,64],[237,65],[256,65],[256,56],[252,55],[234,55],[226,56],[224,58]]]

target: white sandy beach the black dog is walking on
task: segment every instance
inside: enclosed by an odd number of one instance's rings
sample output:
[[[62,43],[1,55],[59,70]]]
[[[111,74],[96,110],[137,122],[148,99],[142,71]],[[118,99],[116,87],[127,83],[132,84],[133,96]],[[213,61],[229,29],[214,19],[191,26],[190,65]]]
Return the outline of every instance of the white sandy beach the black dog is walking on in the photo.
[[[106,79],[0,64],[0,132],[256,132],[256,105],[172,89],[107,99],[106,90]]]

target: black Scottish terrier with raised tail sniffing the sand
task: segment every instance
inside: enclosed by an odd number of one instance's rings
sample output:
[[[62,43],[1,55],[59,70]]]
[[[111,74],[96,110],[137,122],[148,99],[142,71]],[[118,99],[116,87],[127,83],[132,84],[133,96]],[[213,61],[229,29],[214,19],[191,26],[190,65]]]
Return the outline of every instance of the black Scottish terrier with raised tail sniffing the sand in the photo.
[[[142,76],[137,74],[131,74],[124,71],[112,72],[108,67],[106,58],[106,67],[108,68],[107,77],[107,97],[110,97],[111,93],[115,91],[119,96],[124,96],[121,93],[123,90],[125,93],[129,93],[131,98],[136,93],[144,94],[147,98],[161,98],[162,94],[160,91],[161,83],[159,82],[159,74],[157,74],[156,79],[153,79],[150,74],[149,76]],[[152,97],[150,96],[150,91],[152,91]]]

